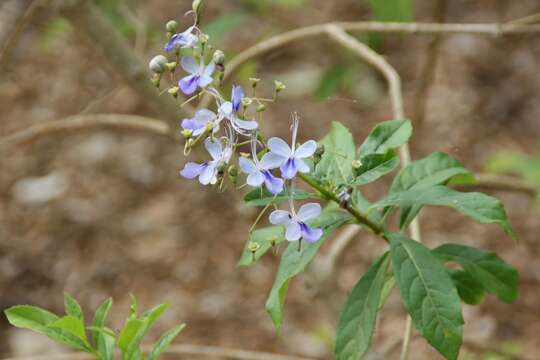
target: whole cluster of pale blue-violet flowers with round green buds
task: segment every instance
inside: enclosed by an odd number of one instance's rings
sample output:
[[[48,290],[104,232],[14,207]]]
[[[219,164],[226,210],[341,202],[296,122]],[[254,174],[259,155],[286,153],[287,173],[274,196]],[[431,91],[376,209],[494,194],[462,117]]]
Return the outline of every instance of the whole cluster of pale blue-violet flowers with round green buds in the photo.
[[[266,110],[265,103],[275,101],[276,95],[285,88],[279,81],[274,82],[273,99],[256,96],[259,79],[250,79],[253,90],[251,97],[247,97],[239,85],[232,86],[229,99],[222,95],[222,84],[217,79],[223,78],[224,54],[220,50],[209,54],[209,37],[198,27],[199,7],[199,2],[194,2],[192,13],[195,22],[186,30],[177,32],[175,21],[167,23],[169,40],[164,51],[174,54],[176,60],[169,61],[165,56],[158,55],[149,64],[154,72],[153,83],[157,87],[164,73],[170,72],[171,78],[174,78],[178,65],[187,73],[168,89],[168,93],[175,98],[178,98],[179,91],[191,96],[182,106],[202,97],[211,99],[210,103],[215,104],[215,110],[199,109],[192,117],[180,122],[182,134],[186,138],[184,153],[189,154],[196,144],[203,142],[210,155],[210,159],[201,163],[186,163],[180,175],[188,179],[198,178],[202,185],[217,184],[220,188],[227,178],[232,184],[237,184],[238,171],[234,163],[238,159],[237,164],[246,175],[246,185],[255,188],[264,186],[276,197],[289,194],[290,210],[274,210],[270,214],[270,222],[283,225],[286,228],[285,237],[289,241],[304,239],[316,242],[322,236],[322,230],[311,228],[306,222],[317,218],[321,214],[321,207],[316,203],[308,203],[296,212],[291,188],[298,173],[311,171],[310,161],[306,160],[315,154],[317,142],[308,140],[303,144],[297,143],[297,114],[293,115],[290,144],[279,137],[271,137],[266,141],[262,136],[259,123]],[[249,147],[250,152],[240,153],[243,146]]]

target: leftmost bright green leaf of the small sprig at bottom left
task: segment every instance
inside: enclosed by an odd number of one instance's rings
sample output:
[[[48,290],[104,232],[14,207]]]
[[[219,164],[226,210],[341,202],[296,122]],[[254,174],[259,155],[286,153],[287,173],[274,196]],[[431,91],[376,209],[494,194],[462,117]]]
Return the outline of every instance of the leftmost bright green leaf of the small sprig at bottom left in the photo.
[[[58,320],[55,314],[31,305],[12,306],[4,313],[11,325],[40,334],[47,334],[47,326]]]

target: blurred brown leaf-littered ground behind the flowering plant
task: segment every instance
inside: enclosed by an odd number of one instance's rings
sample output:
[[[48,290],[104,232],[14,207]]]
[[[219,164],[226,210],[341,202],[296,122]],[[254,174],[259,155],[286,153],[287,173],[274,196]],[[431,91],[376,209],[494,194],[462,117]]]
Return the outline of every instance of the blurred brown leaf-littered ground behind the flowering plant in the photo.
[[[97,50],[87,27],[70,17],[73,9],[63,9],[67,2],[32,3],[0,2],[3,14],[35,7],[23,18],[24,28],[10,24],[12,17],[0,16],[0,39],[10,33],[1,44],[7,48],[0,60],[0,135],[81,113],[167,118]],[[167,20],[186,25],[182,15],[190,1],[101,0],[95,7],[146,64],[161,52]],[[505,22],[540,12],[540,4],[437,0],[416,1],[412,10],[414,21]],[[373,9],[363,0],[208,0],[203,24],[230,58],[295,27],[369,19]],[[387,56],[402,76],[406,113],[416,124],[414,158],[444,151],[483,171],[501,150],[535,154],[540,34],[360,37]],[[360,142],[374,124],[391,118],[378,74],[323,38],[251,61],[234,80],[247,85],[250,76],[262,78],[267,92],[275,78],[288,85],[267,111],[267,133],[284,136],[290,112],[298,111],[303,139],[320,138],[330,121],[338,120]],[[421,99],[426,99],[425,111]],[[344,296],[383,249],[362,233],[333,275],[335,286],[313,289],[309,276],[296,279],[287,296],[283,336],[278,337],[264,311],[278,258],[268,255],[251,268],[236,267],[257,212],[242,205],[240,193],[218,194],[180,179],[178,170],[186,161],[180,144],[98,129],[43,137],[1,152],[1,309],[29,303],[61,311],[62,292],[68,291],[83,308],[93,310],[111,296],[111,321],[119,328],[133,293],[143,307],[163,301],[172,305],[157,330],[186,322],[178,342],[330,358]],[[540,171],[540,162],[528,166]],[[367,187],[365,195],[375,200],[387,186],[383,180]],[[540,209],[525,194],[489,193],[504,201],[519,244],[494,226],[476,225],[437,208],[423,213],[423,238],[430,246],[459,242],[497,251],[521,273],[516,304],[489,296],[479,307],[464,307],[461,358],[540,359]],[[374,350],[401,336],[405,311],[398,297],[395,290],[384,308]],[[412,359],[439,358],[422,339],[414,338],[412,349]],[[60,350],[0,319],[0,355]],[[387,358],[396,358],[398,350],[394,347]]]

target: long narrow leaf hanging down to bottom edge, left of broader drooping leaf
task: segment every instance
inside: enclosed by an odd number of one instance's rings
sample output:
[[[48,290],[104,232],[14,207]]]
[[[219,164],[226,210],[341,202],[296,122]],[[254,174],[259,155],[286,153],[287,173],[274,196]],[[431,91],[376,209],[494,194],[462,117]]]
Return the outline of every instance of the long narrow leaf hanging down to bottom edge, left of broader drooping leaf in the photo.
[[[354,286],[341,313],[336,335],[336,359],[357,360],[369,348],[379,310],[388,253],[377,260]]]

